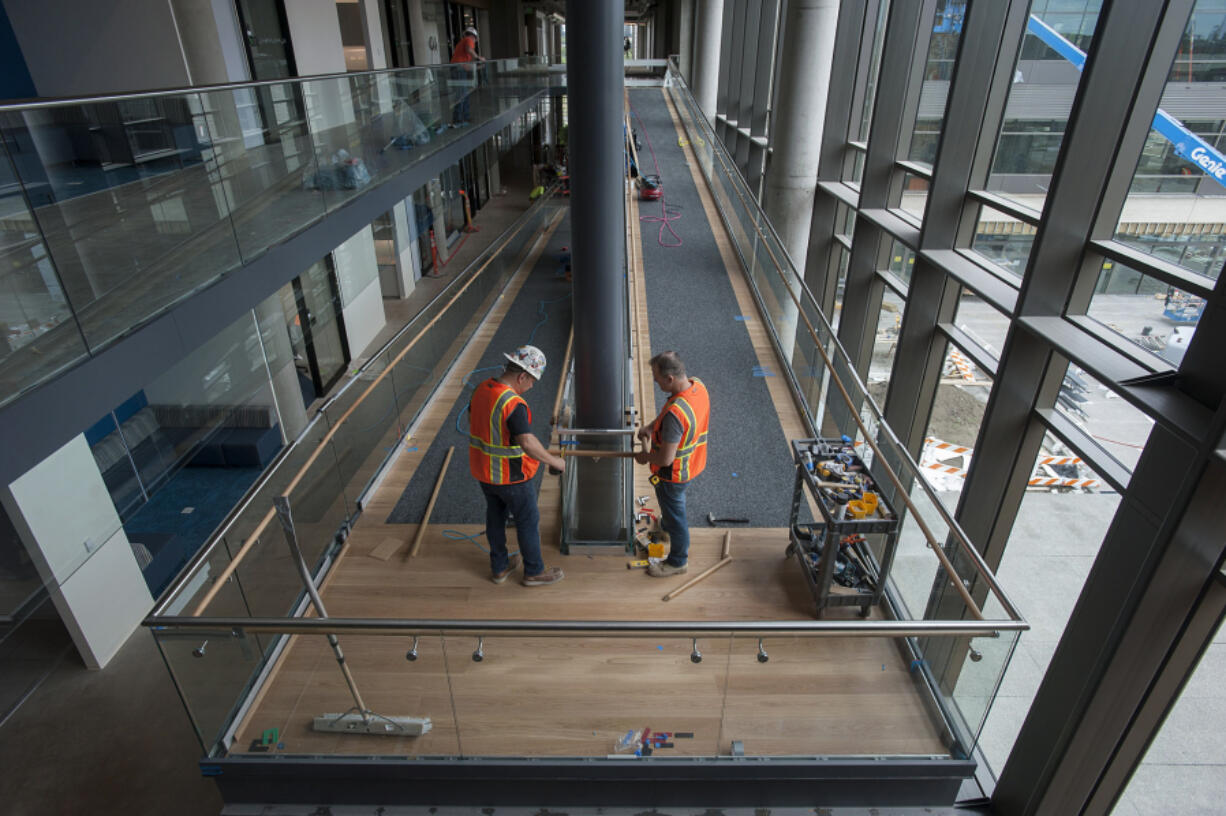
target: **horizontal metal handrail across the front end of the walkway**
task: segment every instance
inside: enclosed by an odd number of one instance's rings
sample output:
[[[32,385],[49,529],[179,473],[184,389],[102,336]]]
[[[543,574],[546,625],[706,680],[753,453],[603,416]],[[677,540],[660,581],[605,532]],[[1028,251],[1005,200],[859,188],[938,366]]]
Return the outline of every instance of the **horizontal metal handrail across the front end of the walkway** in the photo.
[[[641,635],[732,633],[798,637],[993,637],[1030,629],[1024,620],[454,620],[421,618],[146,618],[159,636],[172,630],[270,635],[405,636],[476,632],[525,637],[635,637]]]

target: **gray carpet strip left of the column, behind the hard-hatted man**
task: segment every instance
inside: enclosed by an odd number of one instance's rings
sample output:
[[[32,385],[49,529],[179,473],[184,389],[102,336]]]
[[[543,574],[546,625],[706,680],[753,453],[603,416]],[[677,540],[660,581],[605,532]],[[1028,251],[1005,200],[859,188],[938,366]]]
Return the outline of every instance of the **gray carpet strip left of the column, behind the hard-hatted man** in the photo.
[[[472,387],[490,376],[497,376],[498,370],[506,361],[503,352],[511,352],[515,348],[531,342],[544,352],[546,365],[544,376],[525,395],[528,408],[532,410],[532,431],[542,442],[548,442],[549,413],[553,410],[553,401],[558,392],[558,377],[562,376],[562,357],[566,353],[566,337],[570,334],[570,284],[559,272],[562,263],[559,256],[562,247],[570,245],[570,216],[563,218],[562,224],[554,230],[541,254],[537,265],[532,268],[524,285],[520,288],[515,301],[506,311],[494,339],[481,358],[477,374],[471,374],[467,379],[468,386],[463,388],[456,403],[447,412],[447,419],[443,424],[443,431],[434,440],[418,439],[417,445],[429,445],[422,464],[417,468],[409,480],[405,493],[387,517],[390,524],[416,524],[422,521],[425,513],[425,505],[430,500],[434,483],[438,479],[439,469],[443,467],[443,458],[447,447],[455,446],[456,452],[451,457],[447,467],[447,475],[439,491],[438,502],[430,516],[432,524],[482,524],[485,521],[485,500],[482,496],[477,480],[468,473],[468,399],[472,397]],[[560,298],[560,300],[559,300]],[[547,303],[543,309],[548,315],[541,323],[541,301]],[[537,326],[539,323],[539,326]],[[535,332],[533,333],[533,328]],[[493,366],[497,366],[493,368]],[[490,368],[488,371],[479,369]],[[461,372],[460,376],[463,376]],[[461,431],[456,430],[456,418],[463,412],[460,420]],[[412,442],[411,442],[412,444]],[[544,475],[544,468],[537,473],[536,482],[539,488]],[[552,477],[548,477],[552,478]]]

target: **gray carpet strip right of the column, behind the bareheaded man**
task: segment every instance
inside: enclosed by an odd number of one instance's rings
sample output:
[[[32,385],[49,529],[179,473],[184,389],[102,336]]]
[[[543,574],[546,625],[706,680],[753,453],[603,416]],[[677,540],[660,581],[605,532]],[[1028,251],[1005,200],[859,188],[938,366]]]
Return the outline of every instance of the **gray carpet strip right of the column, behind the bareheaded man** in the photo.
[[[690,526],[705,526],[710,511],[748,518],[753,527],[786,527],[794,469],[764,376],[782,376],[781,370],[774,360],[765,369],[759,366],[745,323],[737,320],[741,309],[677,143],[663,92],[631,89],[630,105],[642,143],[642,173],[657,172],[655,151],[664,202],[671,212],[680,213],[671,222],[683,241],[677,247],[661,246],[660,224],[642,222],[652,352],[676,350],[711,395],[706,470],[687,489]],[[660,216],[660,201],[640,201],[639,214]],[[663,240],[677,239],[666,229]],[[663,402],[657,390],[657,410]]]

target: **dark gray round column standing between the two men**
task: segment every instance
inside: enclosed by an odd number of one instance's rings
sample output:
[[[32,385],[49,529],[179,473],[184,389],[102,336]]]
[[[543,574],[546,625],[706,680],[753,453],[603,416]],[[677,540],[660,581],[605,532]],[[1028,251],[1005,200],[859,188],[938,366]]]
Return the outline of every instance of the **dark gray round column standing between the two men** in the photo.
[[[566,66],[577,428],[622,428],[628,404],[623,15],[619,1],[566,4],[566,49],[584,55]],[[579,538],[612,540],[624,526],[609,497],[620,467],[617,459],[584,463],[574,497]]]

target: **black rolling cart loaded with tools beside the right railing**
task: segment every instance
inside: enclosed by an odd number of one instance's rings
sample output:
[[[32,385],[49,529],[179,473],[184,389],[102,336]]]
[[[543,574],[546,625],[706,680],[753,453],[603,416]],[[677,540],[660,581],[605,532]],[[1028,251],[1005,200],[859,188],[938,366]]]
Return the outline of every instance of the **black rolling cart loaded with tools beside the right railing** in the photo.
[[[792,440],[792,456],[796,489],[787,556],[796,557],[818,618],[829,606],[859,606],[861,618],[867,618],[885,592],[899,546],[899,515],[847,440]],[[805,490],[821,515],[814,523],[799,521]],[[880,543],[880,560],[870,540]]]

